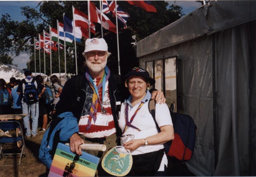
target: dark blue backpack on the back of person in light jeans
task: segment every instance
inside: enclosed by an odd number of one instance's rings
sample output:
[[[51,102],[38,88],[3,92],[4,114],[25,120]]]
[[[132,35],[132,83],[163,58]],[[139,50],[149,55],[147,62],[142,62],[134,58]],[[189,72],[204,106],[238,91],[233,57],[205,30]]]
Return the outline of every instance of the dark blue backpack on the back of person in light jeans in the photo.
[[[38,101],[38,93],[35,86],[35,78],[33,78],[31,82],[26,82],[26,80],[24,80],[24,83],[25,89],[23,101],[25,101],[29,105],[36,103]]]

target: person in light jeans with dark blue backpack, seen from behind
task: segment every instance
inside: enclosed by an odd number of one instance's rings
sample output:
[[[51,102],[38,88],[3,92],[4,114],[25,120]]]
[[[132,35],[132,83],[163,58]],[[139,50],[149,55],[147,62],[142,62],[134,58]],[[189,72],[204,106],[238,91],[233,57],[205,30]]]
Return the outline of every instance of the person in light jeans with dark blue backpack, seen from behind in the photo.
[[[44,94],[44,86],[32,77],[32,72],[27,69],[24,71],[25,79],[20,81],[17,93],[22,94],[22,113],[28,114],[23,117],[26,137],[35,137],[38,128],[39,105],[38,99]],[[38,94],[39,93],[39,94]],[[32,119],[32,128],[30,127],[29,117]]]

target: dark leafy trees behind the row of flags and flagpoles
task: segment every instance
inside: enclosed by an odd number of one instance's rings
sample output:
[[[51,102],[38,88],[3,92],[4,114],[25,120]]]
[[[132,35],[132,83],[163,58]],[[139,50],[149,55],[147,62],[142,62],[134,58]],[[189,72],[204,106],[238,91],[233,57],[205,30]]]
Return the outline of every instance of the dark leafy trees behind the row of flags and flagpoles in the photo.
[[[99,9],[99,1],[92,1]],[[119,27],[119,56],[121,74],[125,74],[131,67],[138,65],[136,52],[131,43],[134,40],[131,36],[136,35],[136,40],[141,40],[166,25],[174,22],[183,16],[182,8],[179,6],[168,6],[166,1],[151,1],[151,4],[157,9],[157,12],[147,12],[137,6],[131,6],[126,1],[118,1],[123,11],[129,13],[127,29],[123,28],[122,23],[118,22]],[[22,7],[22,14],[27,20],[23,22],[14,22],[8,14],[3,15],[0,22],[0,40],[4,45],[0,46],[0,61],[3,63],[12,63],[10,56],[17,56],[20,52],[26,52],[30,55],[30,61],[27,66],[34,70],[34,37],[38,38],[38,33],[43,30],[49,32],[49,26],[57,28],[56,21],[63,23],[63,13],[72,19],[72,6],[87,14],[87,1],[41,1],[38,3],[40,10],[28,6]],[[116,24],[115,17],[107,14],[111,21]],[[91,37],[101,37],[100,24],[96,23],[96,34]],[[108,43],[109,51],[112,55],[108,59],[108,66],[112,72],[118,73],[117,58],[117,37],[116,34],[103,29],[103,35]],[[81,43],[76,43],[78,71],[84,71],[84,51],[83,38]],[[73,42],[74,43],[74,42]],[[74,45],[67,46],[67,72],[76,73],[74,56]],[[73,51],[73,54],[71,53]],[[44,57],[41,53],[41,72],[44,72]],[[60,51],[61,72],[64,72],[64,51]],[[46,74],[50,74],[49,55],[46,55]],[[58,51],[52,52],[52,73],[59,72]],[[36,51],[36,70],[39,72],[39,51]]]

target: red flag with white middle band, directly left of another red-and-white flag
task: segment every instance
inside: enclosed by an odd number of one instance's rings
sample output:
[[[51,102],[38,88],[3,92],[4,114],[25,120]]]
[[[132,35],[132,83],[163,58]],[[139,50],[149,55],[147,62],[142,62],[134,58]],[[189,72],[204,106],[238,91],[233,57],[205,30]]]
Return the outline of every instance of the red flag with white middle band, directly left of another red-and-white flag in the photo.
[[[76,27],[81,30],[81,35],[83,37],[89,38],[89,20],[88,16],[78,9],[73,7],[73,21]],[[90,22],[90,31],[95,34],[95,25]],[[76,29],[75,29],[76,32]]]

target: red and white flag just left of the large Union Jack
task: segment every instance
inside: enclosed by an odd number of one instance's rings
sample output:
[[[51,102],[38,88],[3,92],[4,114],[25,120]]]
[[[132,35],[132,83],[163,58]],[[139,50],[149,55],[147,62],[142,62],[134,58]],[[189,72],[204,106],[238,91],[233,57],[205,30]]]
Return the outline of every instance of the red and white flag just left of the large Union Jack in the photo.
[[[101,23],[100,10],[90,2],[90,21],[95,23]],[[102,13],[102,27],[116,33],[116,26],[109,20],[109,18]]]

